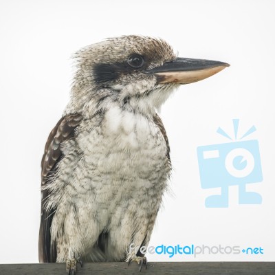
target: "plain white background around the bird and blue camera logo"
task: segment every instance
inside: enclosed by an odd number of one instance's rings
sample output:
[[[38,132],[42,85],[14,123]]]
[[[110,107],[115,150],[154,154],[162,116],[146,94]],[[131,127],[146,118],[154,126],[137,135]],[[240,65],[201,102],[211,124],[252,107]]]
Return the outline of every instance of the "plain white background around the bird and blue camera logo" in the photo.
[[[270,1],[0,1],[0,263],[38,262],[40,162],[72,81],[71,54],[124,34],[162,37],[181,57],[231,67],[178,89],[162,108],[173,178],[151,245],[240,245],[263,255],[174,256],[149,261],[274,261],[275,2]],[[263,182],[248,185],[261,205],[205,208],[218,189],[200,187],[197,146],[228,142],[232,119],[246,140],[259,140]]]

